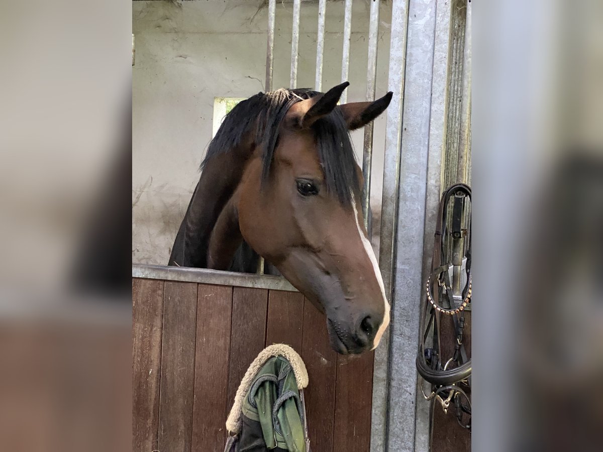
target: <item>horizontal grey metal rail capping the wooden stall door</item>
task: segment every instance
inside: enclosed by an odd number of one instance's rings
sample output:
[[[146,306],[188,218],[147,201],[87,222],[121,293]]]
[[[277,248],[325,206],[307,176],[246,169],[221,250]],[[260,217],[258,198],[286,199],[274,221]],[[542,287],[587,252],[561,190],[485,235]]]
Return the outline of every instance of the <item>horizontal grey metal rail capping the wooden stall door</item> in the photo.
[[[253,273],[225,272],[206,268],[133,264],[132,277],[297,292],[289,281],[280,276],[258,276]]]

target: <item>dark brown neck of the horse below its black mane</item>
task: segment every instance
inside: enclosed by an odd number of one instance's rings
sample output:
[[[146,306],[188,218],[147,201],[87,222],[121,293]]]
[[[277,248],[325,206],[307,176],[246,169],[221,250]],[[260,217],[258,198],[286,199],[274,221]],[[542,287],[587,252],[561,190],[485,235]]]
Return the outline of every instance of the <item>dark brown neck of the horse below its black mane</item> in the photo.
[[[177,253],[172,251],[175,259],[170,259],[176,265],[207,268],[213,227],[239,185],[245,164],[253,152],[251,146],[243,147],[245,149],[221,152],[207,161],[174,243],[174,251],[180,247]]]

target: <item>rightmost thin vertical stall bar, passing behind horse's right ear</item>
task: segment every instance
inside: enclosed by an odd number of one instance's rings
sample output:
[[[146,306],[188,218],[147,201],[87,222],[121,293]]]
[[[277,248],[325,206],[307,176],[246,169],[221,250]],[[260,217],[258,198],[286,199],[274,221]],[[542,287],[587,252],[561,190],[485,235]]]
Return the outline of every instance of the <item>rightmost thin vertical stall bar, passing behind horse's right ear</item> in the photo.
[[[367,101],[374,101],[375,80],[377,77],[377,42],[379,34],[379,0],[371,2],[370,22],[368,25],[368,69],[367,69]],[[364,151],[362,152],[362,213],[364,226],[368,228],[368,207],[371,199],[371,166],[373,163],[373,122],[364,126]],[[370,234],[370,231],[369,231]]]

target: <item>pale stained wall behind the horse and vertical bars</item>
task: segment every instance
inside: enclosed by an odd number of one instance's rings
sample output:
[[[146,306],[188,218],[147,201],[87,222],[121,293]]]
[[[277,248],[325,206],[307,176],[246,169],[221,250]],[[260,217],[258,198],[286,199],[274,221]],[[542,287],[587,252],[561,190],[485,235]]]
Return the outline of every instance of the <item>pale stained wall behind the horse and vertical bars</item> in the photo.
[[[165,264],[212,137],[213,98],[264,90],[267,7],[262,0],[134,1],[132,259]],[[341,1],[327,3],[323,90],[340,83]],[[369,1],[353,8],[348,101],[364,101]],[[274,89],[288,87],[291,2],[277,2]],[[313,87],[317,2],[301,7],[299,87]],[[391,4],[380,11],[377,96],[387,92]],[[362,131],[352,134],[358,160]],[[371,205],[379,212],[385,120],[375,122]]]

